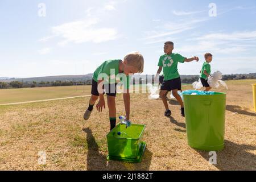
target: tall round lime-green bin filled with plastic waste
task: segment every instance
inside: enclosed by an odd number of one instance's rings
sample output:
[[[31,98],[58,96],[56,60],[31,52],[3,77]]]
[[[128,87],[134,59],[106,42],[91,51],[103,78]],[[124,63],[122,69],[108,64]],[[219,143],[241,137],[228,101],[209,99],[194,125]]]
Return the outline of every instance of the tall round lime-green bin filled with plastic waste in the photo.
[[[183,95],[188,145],[204,151],[224,148],[226,93]]]

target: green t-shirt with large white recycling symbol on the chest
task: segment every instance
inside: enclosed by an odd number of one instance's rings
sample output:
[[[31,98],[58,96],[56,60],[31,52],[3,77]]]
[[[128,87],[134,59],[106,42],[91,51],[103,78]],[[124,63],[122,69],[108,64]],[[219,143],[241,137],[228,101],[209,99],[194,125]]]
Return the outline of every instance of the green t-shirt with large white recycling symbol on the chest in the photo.
[[[179,78],[179,72],[177,71],[177,64],[184,63],[185,57],[178,53],[172,53],[171,55],[163,55],[159,59],[158,66],[163,67],[164,81],[173,80]]]

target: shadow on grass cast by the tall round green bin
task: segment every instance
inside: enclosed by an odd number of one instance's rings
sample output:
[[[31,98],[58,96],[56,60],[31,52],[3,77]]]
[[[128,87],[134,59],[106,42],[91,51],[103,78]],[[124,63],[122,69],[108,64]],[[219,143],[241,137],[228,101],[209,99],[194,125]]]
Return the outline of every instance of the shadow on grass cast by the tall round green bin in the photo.
[[[217,165],[218,169],[223,171],[229,170],[256,170],[256,155],[252,154],[252,151],[256,150],[256,146],[250,146],[245,144],[237,144],[225,140],[225,148],[222,151],[217,152]],[[209,152],[199,151],[199,154],[209,160]]]

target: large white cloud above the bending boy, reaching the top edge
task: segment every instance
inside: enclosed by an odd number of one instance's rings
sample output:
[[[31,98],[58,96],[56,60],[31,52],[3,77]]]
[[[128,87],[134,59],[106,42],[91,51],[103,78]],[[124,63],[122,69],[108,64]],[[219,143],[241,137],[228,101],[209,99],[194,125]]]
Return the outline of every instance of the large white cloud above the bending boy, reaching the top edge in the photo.
[[[86,9],[86,19],[63,23],[59,26],[51,27],[52,36],[40,39],[40,42],[47,42],[51,38],[61,38],[57,43],[59,46],[65,46],[68,43],[102,43],[109,40],[115,40],[121,35],[115,28],[99,27],[100,20],[106,16],[107,11],[116,10],[115,7],[123,1],[109,1],[106,4],[97,7],[88,7]],[[96,27],[97,26],[97,27]]]

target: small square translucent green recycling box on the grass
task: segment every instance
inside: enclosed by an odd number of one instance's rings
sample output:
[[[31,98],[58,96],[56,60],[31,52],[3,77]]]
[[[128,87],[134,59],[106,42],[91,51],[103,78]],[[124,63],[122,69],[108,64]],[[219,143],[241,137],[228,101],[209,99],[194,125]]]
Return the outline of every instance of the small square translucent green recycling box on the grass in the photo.
[[[145,125],[132,124],[130,127],[119,123],[106,136],[108,140],[108,160],[139,163],[146,149],[142,141]],[[122,135],[118,135],[118,133]]]

